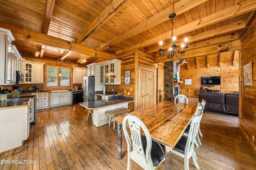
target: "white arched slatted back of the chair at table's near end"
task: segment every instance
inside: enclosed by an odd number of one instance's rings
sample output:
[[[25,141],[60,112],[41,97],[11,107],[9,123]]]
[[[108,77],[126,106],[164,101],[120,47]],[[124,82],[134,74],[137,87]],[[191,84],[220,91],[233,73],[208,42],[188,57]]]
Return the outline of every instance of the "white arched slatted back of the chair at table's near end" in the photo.
[[[131,139],[127,132],[127,124],[130,127],[131,132]],[[124,117],[123,120],[123,131],[124,136],[127,142],[127,154],[128,154],[128,166],[127,170],[131,168],[131,160],[139,164],[144,169],[154,169],[153,168],[153,162],[151,159],[151,147],[152,147],[152,139],[150,137],[150,133],[148,132],[148,129],[144,125],[144,123],[136,116],[134,115],[127,115]],[[146,151],[144,152],[143,146],[142,146],[142,140],[140,135],[140,130],[144,131],[144,134],[146,136]]]

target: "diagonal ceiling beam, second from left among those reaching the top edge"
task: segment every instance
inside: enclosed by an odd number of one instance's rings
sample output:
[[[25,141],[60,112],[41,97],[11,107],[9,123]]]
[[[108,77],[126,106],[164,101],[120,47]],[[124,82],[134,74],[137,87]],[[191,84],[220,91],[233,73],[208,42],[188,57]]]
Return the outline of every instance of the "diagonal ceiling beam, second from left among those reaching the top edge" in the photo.
[[[81,43],[92,33],[94,33],[99,27],[101,27],[106,21],[108,21],[116,12],[122,9],[130,0],[112,0],[110,4],[105,8],[102,13],[90,24],[87,29],[78,37],[77,43]]]

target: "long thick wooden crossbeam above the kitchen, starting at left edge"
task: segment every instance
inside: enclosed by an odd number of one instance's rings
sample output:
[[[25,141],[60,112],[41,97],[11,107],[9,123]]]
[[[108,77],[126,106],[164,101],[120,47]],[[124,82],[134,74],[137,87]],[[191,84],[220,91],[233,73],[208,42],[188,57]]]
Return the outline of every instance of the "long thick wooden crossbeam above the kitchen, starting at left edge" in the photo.
[[[0,25],[3,28],[11,30],[15,39],[19,39],[22,41],[35,43],[35,44],[39,44],[39,45],[57,47],[60,49],[74,51],[74,52],[81,53],[84,55],[89,55],[92,57],[98,57],[98,58],[107,59],[107,60],[110,59],[110,54],[106,53],[104,51],[96,50],[91,47],[86,47],[86,46],[78,44],[78,43],[65,41],[63,39],[59,39],[56,37],[46,35],[44,33],[26,29],[26,28],[20,27],[18,25],[13,25],[10,23],[2,22],[2,21],[0,21]],[[113,55],[112,58],[116,59],[116,56]]]

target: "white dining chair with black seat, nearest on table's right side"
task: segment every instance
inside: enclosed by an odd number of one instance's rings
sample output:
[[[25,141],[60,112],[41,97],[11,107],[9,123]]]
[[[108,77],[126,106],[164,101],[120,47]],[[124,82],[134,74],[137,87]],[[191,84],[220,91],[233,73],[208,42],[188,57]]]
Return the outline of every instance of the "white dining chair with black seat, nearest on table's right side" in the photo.
[[[184,169],[189,170],[189,159],[192,157],[193,162],[197,169],[200,169],[197,163],[196,152],[194,150],[196,136],[198,135],[198,128],[202,119],[202,110],[198,109],[197,113],[192,117],[188,137],[182,136],[175,147],[172,149],[172,153],[184,158]]]

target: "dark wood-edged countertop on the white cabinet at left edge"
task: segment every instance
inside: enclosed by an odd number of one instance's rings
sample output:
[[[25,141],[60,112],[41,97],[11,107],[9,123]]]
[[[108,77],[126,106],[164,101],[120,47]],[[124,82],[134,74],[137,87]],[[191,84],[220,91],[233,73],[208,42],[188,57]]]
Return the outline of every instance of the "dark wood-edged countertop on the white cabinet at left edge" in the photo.
[[[28,106],[29,101],[30,101],[30,98],[7,99],[4,102],[0,102],[0,109],[9,109],[12,107]]]

